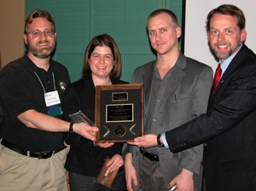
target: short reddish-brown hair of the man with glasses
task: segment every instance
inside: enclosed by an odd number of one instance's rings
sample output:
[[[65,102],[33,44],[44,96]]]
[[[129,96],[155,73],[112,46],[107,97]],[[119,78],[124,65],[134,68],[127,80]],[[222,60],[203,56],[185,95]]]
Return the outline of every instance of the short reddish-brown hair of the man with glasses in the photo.
[[[53,32],[55,32],[55,21],[54,21],[52,15],[49,14],[49,12],[46,10],[35,9],[31,12],[31,14],[29,14],[26,17],[24,34],[26,34],[26,32],[27,32],[28,25],[31,24],[32,21],[36,18],[44,18],[44,19],[48,20],[53,26]]]

